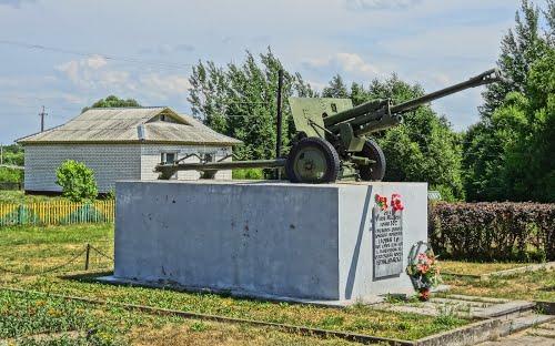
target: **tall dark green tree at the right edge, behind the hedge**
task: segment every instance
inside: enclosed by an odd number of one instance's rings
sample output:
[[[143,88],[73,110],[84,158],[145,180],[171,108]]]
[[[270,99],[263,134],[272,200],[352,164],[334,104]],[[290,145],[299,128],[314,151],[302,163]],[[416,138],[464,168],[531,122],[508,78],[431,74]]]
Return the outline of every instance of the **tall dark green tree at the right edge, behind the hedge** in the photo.
[[[548,60],[549,52],[554,49],[554,41],[549,40],[555,23],[553,0],[543,13],[551,26],[545,37],[538,29],[539,9],[522,1],[515,16],[515,29],[503,38],[497,61],[506,80],[488,85],[483,94],[482,120],[465,134],[464,182],[472,201],[551,199],[548,189],[536,191],[534,186],[538,181],[549,180],[544,175],[544,167],[551,163],[539,164],[539,157],[549,156],[545,147],[551,145],[545,134],[548,130],[542,124],[549,119],[551,89],[545,78],[553,75],[548,69],[548,63],[553,62]],[[547,115],[538,113],[542,109]]]

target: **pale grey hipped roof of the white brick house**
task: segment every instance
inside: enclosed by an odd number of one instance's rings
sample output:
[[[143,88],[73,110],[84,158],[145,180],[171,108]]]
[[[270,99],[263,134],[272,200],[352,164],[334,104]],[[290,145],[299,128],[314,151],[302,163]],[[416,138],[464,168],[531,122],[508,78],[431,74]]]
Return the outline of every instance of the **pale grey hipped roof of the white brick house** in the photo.
[[[165,115],[168,121],[160,121]],[[167,143],[236,145],[241,141],[220,134],[189,115],[167,106],[90,109],[70,122],[18,140],[46,143]]]

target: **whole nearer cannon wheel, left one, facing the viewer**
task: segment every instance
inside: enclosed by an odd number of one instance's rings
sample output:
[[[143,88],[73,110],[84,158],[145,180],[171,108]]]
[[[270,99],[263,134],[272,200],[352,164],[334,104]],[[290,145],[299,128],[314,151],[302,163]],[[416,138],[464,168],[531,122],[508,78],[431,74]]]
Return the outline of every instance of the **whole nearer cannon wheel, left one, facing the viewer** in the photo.
[[[340,173],[340,157],[326,140],[305,138],[291,149],[285,173],[293,183],[333,183]]]

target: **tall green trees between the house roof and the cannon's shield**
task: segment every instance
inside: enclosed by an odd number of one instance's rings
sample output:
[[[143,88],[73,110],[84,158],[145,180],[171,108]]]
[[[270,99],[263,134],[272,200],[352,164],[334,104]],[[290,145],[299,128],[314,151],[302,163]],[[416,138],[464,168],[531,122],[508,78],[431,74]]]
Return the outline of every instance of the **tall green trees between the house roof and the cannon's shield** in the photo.
[[[269,48],[256,59],[246,52],[241,64],[200,61],[189,79],[189,101],[193,116],[213,130],[244,142],[235,150],[241,160],[275,156],[278,72],[283,69]],[[284,71],[283,81],[283,153],[289,151],[294,124],[286,102],[291,95],[314,96],[316,93],[299,73]]]

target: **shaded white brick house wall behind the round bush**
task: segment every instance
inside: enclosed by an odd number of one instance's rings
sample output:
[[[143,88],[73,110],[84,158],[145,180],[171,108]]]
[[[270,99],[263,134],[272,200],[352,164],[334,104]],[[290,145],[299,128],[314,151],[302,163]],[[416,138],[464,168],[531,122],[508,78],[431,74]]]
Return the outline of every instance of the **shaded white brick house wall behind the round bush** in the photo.
[[[117,180],[141,179],[140,144],[28,144],[26,191],[59,191],[56,170],[65,160],[83,162],[94,172],[99,192]]]

